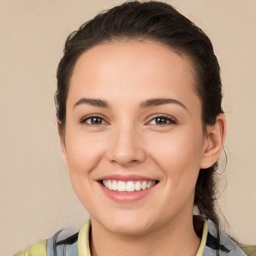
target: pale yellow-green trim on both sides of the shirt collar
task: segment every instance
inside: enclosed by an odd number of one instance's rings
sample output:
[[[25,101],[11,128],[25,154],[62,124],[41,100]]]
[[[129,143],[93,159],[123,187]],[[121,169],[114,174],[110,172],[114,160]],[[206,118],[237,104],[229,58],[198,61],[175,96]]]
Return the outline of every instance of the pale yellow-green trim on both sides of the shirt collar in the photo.
[[[78,233],[77,240],[77,250],[78,256],[91,256],[90,255],[90,246],[89,246],[89,235],[90,235],[90,219],[82,226],[81,230]],[[200,242],[199,249],[195,256],[202,256],[202,251],[206,244],[208,233],[208,221],[204,219],[202,238]]]

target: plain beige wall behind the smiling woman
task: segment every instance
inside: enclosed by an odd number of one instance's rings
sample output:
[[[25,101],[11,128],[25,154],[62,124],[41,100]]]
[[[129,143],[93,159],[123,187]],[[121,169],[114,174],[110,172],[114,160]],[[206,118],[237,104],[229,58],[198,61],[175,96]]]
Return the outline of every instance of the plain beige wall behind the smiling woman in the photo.
[[[88,218],[63,165],[53,94],[66,35],[119,0],[0,0],[0,255]],[[222,69],[229,233],[256,243],[255,0],[168,0],[211,38]]]

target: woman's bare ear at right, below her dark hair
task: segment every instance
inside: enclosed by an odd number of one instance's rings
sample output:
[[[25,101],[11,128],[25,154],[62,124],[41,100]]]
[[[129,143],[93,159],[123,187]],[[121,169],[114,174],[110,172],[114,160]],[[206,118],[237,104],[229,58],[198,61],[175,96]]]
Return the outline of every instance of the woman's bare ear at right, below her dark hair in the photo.
[[[217,161],[224,145],[225,136],[225,116],[220,113],[216,117],[216,122],[211,126],[207,126],[203,155],[200,161],[201,169],[208,168]]]

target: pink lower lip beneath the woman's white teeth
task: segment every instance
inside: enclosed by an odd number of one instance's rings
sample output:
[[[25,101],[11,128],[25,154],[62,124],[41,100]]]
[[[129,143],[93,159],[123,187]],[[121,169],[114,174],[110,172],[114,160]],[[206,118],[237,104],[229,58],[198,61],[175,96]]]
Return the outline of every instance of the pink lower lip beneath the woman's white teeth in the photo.
[[[109,197],[113,201],[122,202],[122,203],[138,201],[143,197],[145,197],[146,195],[148,195],[156,186],[156,184],[154,184],[150,188],[147,188],[145,190],[134,191],[134,192],[117,192],[115,190],[110,190],[106,188],[100,182],[99,182],[99,185],[107,197]]]

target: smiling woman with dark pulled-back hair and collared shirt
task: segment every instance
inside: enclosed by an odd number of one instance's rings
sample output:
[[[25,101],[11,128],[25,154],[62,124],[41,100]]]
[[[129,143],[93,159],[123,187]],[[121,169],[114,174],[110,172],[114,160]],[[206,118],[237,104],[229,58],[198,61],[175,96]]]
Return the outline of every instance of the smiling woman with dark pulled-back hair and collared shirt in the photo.
[[[215,210],[221,98],[210,40],[168,4],[126,2],[71,33],[57,69],[58,131],[90,220],[26,253],[245,255]]]

